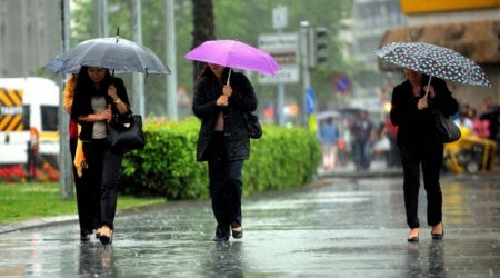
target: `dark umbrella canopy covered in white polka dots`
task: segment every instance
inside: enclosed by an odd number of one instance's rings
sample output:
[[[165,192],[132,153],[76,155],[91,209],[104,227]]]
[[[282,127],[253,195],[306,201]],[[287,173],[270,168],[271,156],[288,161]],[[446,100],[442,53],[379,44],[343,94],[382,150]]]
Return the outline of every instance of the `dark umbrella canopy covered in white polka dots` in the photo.
[[[391,42],[374,52],[383,60],[431,77],[491,87],[484,71],[474,61],[448,48],[426,42]]]

